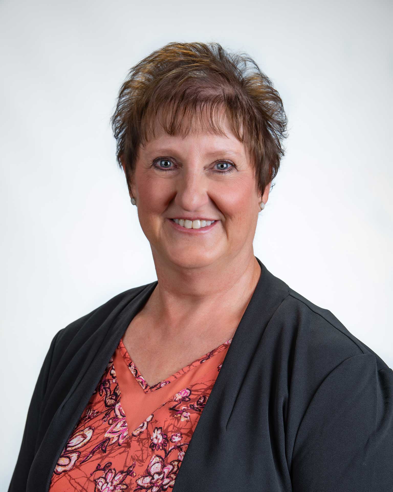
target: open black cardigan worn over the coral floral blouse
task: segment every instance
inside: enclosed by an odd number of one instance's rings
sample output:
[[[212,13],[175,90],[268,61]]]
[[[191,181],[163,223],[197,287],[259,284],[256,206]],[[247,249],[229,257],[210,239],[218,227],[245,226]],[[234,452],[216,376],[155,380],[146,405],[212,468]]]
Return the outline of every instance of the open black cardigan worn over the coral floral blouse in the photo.
[[[392,492],[392,369],[257,260],[260,278],[173,492]],[[53,338],[9,492],[48,491],[69,434],[156,285],[118,294]]]

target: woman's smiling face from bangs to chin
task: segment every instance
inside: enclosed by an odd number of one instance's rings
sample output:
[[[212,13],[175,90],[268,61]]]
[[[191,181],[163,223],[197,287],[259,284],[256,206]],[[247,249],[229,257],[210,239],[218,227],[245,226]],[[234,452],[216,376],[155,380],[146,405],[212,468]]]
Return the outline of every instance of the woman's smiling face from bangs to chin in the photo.
[[[269,185],[261,197],[245,146],[227,123],[223,129],[226,136],[185,138],[161,130],[140,147],[131,188],[155,262],[201,268],[253,254],[259,202],[267,202]],[[173,219],[185,219],[188,228]],[[202,220],[214,222],[194,228]]]

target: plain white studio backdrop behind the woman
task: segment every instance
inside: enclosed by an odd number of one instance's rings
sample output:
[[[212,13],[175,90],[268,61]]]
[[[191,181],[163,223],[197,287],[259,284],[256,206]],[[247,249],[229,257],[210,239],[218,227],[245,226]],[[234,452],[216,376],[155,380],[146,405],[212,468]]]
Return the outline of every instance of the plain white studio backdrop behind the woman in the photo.
[[[254,253],[393,367],[387,1],[0,2],[0,489],[57,331],[156,279],[109,119],[169,41],[246,51],[281,94],[286,156]]]

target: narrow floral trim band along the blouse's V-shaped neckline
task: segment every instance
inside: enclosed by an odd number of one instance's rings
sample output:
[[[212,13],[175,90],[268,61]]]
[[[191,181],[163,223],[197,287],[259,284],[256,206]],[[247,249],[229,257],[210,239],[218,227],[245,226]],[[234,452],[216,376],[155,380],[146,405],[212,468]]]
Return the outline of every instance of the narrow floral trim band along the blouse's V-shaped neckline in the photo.
[[[191,369],[194,369],[198,367],[200,364],[203,362],[207,361],[208,359],[211,359],[215,355],[219,354],[222,350],[225,350],[227,347],[229,347],[230,343],[232,341],[232,338],[229,338],[226,340],[224,343],[221,343],[218,347],[214,348],[210,352],[202,355],[201,357],[198,357],[195,361],[193,361],[191,364],[187,364],[184,366],[182,369],[179,369],[176,371],[174,374],[171,374],[170,376],[166,377],[162,381],[153,384],[149,386],[146,382],[146,380],[143,378],[142,374],[140,373],[139,369],[137,366],[134,364],[132,361],[126,347],[124,346],[123,339],[120,338],[119,344],[117,346],[117,349],[120,351],[120,354],[122,355],[124,361],[126,362],[128,368],[130,369],[131,373],[134,375],[135,379],[138,381],[140,387],[145,393],[151,393],[152,391],[156,391],[160,388],[163,388],[167,384],[170,384],[172,381],[178,379],[181,377],[183,374],[186,374],[189,372]]]

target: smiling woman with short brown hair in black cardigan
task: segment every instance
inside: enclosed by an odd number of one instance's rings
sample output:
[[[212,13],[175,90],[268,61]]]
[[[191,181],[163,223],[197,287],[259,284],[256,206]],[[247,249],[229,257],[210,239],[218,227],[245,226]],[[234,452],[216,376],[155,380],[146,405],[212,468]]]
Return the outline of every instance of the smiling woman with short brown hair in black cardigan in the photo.
[[[112,126],[158,280],[56,334],[9,491],[392,491],[392,369],[253,254],[286,129],[270,80],[170,43]]]

